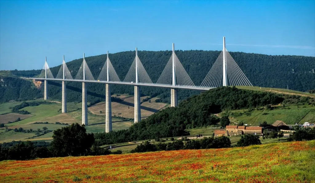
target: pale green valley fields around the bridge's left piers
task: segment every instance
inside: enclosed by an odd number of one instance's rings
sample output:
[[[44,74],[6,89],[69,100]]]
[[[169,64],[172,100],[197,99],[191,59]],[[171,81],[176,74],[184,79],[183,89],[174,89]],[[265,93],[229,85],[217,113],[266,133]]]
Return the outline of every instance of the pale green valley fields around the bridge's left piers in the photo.
[[[18,103],[4,103],[1,104],[2,108],[8,108],[10,106],[15,106]],[[81,112],[82,103],[75,103],[75,102],[69,102],[67,104],[68,112],[67,113],[58,113],[58,110],[61,108],[60,103],[53,103],[53,104],[41,104],[39,106],[28,106],[23,108],[23,110],[27,110],[28,112],[31,112],[30,116],[24,120],[21,120],[19,122],[14,122],[10,124],[6,124],[8,128],[14,129],[14,128],[23,128],[23,129],[33,129],[37,130],[42,129],[43,127],[47,127],[48,130],[55,130],[58,128],[62,128],[65,125],[58,125],[58,124],[32,124],[34,122],[49,122],[49,123],[82,123],[82,112]],[[104,110],[105,111],[105,110]],[[6,117],[7,115],[15,115],[14,120],[16,120],[17,116],[20,114],[5,114],[0,116]],[[23,115],[22,115],[23,116]],[[22,118],[21,116],[21,118]],[[13,118],[12,118],[13,119]],[[13,121],[14,121],[13,120]],[[91,113],[88,113],[88,122],[89,125],[86,127],[88,133],[98,133],[98,132],[104,132],[105,131],[105,116],[99,116],[94,115]],[[120,129],[127,129],[132,124],[134,124],[133,121],[122,121],[118,118],[112,118],[112,129],[114,131],[120,130]],[[20,132],[14,132],[9,131],[5,132],[5,128],[1,128],[0,130],[2,133],[0,133],[0,142],[9,142],[12,140],[27,140],[26,138],[34,136],[34,133],[20,133]],[[52,137],[53,133],[48,133],[43,136],[39,136],[37,138],[50,138]]]

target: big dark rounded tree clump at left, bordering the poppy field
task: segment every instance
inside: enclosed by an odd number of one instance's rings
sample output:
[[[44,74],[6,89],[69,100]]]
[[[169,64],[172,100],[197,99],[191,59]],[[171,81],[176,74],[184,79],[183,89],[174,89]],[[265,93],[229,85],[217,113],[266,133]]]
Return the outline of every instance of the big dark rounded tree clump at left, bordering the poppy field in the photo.
[[[82,156],[90,152],[94,135],[87,134],[84,125],[73,123],[70,126],[56,129],[51,143],[54,156]]]

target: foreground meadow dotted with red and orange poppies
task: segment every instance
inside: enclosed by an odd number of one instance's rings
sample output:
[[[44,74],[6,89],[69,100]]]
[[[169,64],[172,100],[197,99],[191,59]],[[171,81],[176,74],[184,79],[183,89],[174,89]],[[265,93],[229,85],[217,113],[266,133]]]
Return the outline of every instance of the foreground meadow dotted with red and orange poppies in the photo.
[[[315,141],[0,162],[0,182],[315,182]],[[37,172],[34,174],[34,172]]]

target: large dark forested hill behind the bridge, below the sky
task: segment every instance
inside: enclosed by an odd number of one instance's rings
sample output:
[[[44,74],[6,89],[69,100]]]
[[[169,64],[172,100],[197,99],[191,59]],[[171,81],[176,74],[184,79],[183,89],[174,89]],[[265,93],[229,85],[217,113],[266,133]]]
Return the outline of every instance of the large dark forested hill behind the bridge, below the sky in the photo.
[[[194,84],[200,85],[204,77],[209,72],[215,60],[220,54],[220,51],[175,51],[177,57],[181,61],[183,67],[191,77]],[[166,63],[168,62],[171,51],[138,51],[138,56],[145,67],[152,82],[156,82],[161,75]],[[254,86],[272,87],[272,88],[287,88],[307,91],[315,89],[315,57],[306,56],[272,56],[264,54],[250,54],[243,52],[230,52],[238,66]],[[126,76],[131,63],[135,58],[135,51],[119,52],[109,54],[109,58],[114,66],[120,80]],[[87,64],[97,79],[100,71],[105,63],[106,54],[86,57]],[[60,61],[61,62],[61,61]],[[82,58],[67,62],[67,66],[75,77],[82,63]],[[57,75],[60,66],[52,67],[51,71],[54,76]],[[31,71],[11,71],[15,76],[32,77],[40,73],[40,70]],[[6,82],[4,78],[4,83]],[[8,79],[7,79],[8,80]],[[49,82],[52,88],[49,90],[50,98],[60,99],[60,83]],[[7,87],[6,84],[1,84],[1,87]],[[80,98],[81,83],[68,83],[72,90],[68,92],[68,100],[78,100]],[[87,84],[89,95],[88,100],[95,100],[96,97],[103,97],[105,93],[104,86],[101,84]],[[5,89],[1,89],[5,92]],[[77,92],[75,92],[77,91]],[[112,93],[133,93],[133,88],[123,85],[112,87]],[[160,95],[164,101],[169,100],[169,90],[160,88],[141,87],[141,93],[144,95]],[[197,94],[196,91],[179,91],[179,99],[186,98],[192,94]],[[3,95],[3,94],[0,94]],[[2,96],[1,96],[2,97]],[[14,98],[11,98],[12,100]],[[16,98],[15,98],[16,99]]]

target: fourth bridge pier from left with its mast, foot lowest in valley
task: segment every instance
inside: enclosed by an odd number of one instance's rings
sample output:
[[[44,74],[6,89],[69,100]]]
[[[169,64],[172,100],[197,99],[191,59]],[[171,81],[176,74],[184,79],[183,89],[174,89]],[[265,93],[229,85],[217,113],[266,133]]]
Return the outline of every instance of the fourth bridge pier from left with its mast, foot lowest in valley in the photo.
[[[107,81],[109,81],[109,58],[107,51]],[[106,121],[105,121],[105,132],[108,133],[112,131],[112,100],[111,100],[111,88],[109,84],[105,84],[106,86]]]

